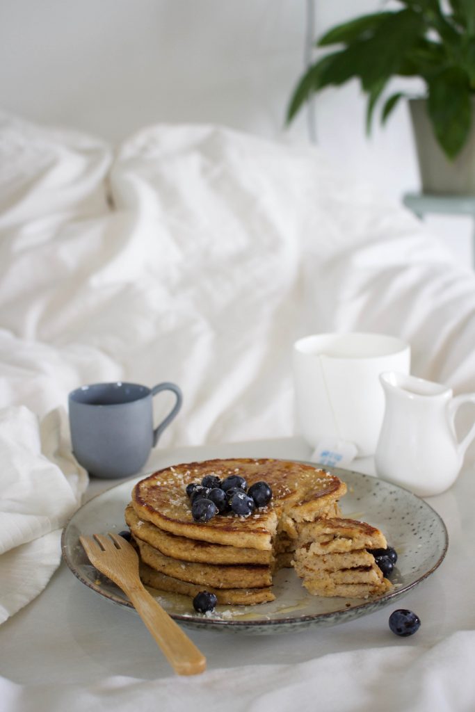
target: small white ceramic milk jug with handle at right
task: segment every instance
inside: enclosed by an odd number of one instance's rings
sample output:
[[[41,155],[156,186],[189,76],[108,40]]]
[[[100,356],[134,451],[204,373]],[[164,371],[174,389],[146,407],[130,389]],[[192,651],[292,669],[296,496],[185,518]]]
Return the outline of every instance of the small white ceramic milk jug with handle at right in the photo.
[[[377,475],[421,497],[440,494],[456,480],[475,424],[460,442],[455,416],[475,394],[397,372],[380,375],[385,415],[375,454]]]

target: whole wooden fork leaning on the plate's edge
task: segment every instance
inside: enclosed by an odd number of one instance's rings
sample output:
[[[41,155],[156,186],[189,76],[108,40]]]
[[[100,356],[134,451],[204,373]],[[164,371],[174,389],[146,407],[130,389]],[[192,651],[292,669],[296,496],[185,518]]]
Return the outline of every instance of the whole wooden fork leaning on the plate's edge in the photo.
[[[165,657],[179,675],[206,669],[206,658],[186,633],[145,589],[139,577],[139,559],[124,538],[108,533],[81,536],[80,543],[93,566],[116,583],[132,601]]]

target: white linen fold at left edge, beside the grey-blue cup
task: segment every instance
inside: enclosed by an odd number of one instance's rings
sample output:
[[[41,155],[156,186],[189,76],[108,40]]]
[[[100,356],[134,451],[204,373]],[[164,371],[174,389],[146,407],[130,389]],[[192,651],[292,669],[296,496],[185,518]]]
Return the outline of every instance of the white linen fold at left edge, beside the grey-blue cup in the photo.
[[[0,410],[0,623],[50,580],[61,560],[61,527],[87,483],[71,454],[65,412],[39,423],[24,406]]]

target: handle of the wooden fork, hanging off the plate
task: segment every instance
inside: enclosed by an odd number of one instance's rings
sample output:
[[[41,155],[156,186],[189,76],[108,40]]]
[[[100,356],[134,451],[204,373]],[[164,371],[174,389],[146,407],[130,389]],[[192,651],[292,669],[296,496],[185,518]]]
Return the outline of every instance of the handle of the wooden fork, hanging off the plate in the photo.
[[[202,652],[142,584],[126,593],[177,674],[197,675],[206,669]]]

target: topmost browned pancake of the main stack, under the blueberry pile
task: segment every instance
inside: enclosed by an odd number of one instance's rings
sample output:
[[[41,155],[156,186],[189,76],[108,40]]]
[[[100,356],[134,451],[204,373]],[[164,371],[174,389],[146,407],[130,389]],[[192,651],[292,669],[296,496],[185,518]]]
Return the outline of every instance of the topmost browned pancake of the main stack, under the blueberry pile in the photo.
[[[217,515],[206,523],[192,518],[188,483],[205,475],[221,479],[240,475],[248,486],[265,481],[273,498],[249,517]],[[132,491],[137,516],[161,530],[212,544],[272,551],[278,522],[285,513],[294,522],[312,521],[328,511],[346,491],[345,483],[314,466],[272,459],[208,460],[172,466],[138,482]]]

